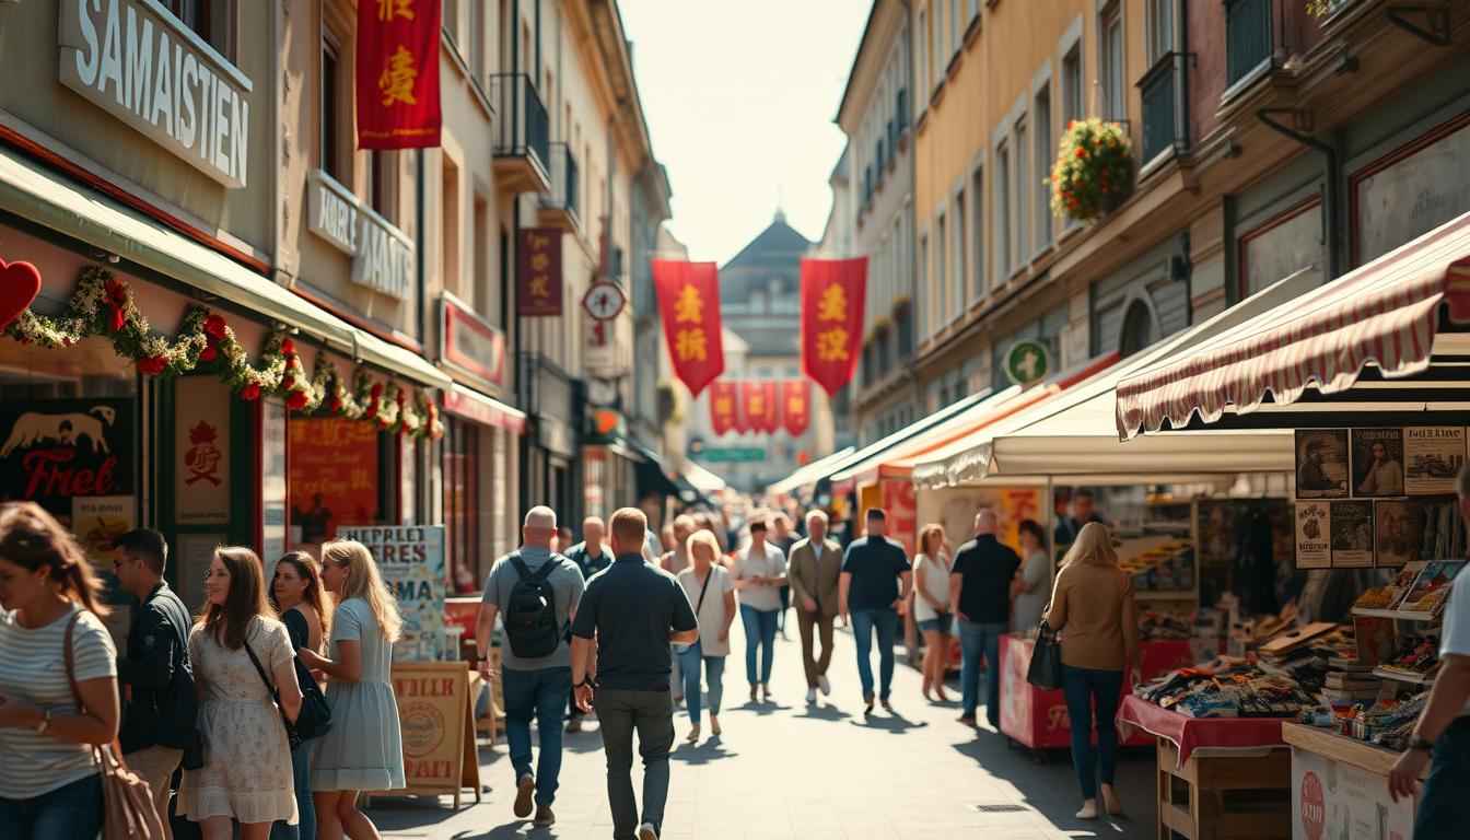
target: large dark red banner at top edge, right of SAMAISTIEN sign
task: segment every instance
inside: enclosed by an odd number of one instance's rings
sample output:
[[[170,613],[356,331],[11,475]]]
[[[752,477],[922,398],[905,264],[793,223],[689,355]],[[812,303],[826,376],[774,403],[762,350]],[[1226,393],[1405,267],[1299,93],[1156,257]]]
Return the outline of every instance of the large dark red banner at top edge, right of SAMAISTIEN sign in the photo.
[[[440,0],[357,0],[357,147],[440,144]]]

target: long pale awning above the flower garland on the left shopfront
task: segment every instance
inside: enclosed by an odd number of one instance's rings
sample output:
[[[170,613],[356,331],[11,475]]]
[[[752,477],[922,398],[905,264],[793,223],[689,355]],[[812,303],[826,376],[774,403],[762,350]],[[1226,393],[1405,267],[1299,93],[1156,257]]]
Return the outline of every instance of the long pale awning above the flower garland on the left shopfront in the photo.
[[[223,255],[4,149],[0,149],[0,210],[178,278],[266,319],[297,327],[334,350],[420,385],[450,387],[448,375],[410,350],[357,330]]]

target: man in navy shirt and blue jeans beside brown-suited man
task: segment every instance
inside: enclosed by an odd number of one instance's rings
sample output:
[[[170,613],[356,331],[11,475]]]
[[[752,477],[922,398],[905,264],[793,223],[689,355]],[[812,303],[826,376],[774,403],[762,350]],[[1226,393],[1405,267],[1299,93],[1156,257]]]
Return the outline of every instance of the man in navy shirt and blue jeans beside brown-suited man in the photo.
[[[838,611],[842,624],[853,621],[857,640],[857,678],[863,684],[864,715],[873,713],[873,630],[878,631],[879,700],[889,712],[888,693],[894,683],[894,640],[898,638],[898,606],[913,587],[913,566],[904,547],[883,535],[882,508],[869,508],[867,530],[853,540],[842,556],[838,581]]]

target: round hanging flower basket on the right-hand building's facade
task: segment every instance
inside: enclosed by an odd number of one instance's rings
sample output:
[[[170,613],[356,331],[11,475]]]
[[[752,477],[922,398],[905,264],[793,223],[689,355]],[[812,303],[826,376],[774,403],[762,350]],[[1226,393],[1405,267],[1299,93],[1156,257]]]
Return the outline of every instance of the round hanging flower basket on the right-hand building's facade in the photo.
[[[1127,196],[1133,150],[1116,122],[1073,121],[1051,168],[1051,212],[1079,222],[1107,213]]]

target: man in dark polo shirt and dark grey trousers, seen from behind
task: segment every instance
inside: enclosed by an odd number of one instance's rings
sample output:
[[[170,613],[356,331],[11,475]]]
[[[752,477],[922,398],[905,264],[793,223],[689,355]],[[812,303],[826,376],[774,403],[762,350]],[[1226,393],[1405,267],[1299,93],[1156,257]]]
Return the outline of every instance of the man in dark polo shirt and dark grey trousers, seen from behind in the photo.
[[[673,703],[669,644],[692,644],[698,622],[673,575],[644,562],[648,518],[622,508],[609,522],[613,565],[587,584],[572,621],[572,688],[576,705],[592,711],[588,655],[597,638],[597,719],[607,753],[607,802],[617,840],[657,840],[669,797]],[[644,762],[644,808],[634,797],[634,730]]]

